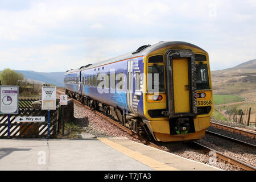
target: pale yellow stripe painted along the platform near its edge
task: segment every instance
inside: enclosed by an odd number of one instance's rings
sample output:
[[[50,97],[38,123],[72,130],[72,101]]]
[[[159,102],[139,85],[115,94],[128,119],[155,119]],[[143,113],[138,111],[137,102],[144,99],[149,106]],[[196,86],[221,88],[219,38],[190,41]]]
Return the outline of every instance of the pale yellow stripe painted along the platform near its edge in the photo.
[[[132,159],[137,160],[145,164],[146,166],[157,170],[157,171],[179,171],[174,167],[168,166],[164,163],[159,162],[158,160],[152,159],[146,155],[141,154],[140,152],[133,151],[130,148],[124,147],[121,144],[115,143],[108,138],[98,138],[101,142],[107,144],[108,146],[114,148],[115,150],[122,152],[122,154],[129,156]]]

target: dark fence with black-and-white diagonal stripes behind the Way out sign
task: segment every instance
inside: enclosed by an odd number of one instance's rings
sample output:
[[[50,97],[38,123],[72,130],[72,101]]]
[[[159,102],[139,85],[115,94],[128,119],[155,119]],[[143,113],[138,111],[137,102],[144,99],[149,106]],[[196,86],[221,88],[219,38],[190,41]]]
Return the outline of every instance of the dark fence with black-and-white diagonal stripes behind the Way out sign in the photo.
[[[32,102],[38,100],[19,100],[19,114],[10,115],[10,130],[8,137],[8,115],[0,115],[0,138],[47,138],[48,117],[47,110],[32,109]],[[60,130],[61,107],[56,106],[56,110],[51,110],[49,134],[50,138],[57,136]],[[17,122],[16,117],[43,116],[45,122]]]

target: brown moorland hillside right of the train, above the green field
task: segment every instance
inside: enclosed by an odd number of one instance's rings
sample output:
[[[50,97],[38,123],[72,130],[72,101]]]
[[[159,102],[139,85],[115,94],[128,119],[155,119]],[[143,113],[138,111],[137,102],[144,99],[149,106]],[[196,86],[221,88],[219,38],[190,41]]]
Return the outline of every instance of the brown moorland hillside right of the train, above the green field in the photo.
[[[211,76],[214,94],[232,94],[256,101],[256,59],[212,71]]]

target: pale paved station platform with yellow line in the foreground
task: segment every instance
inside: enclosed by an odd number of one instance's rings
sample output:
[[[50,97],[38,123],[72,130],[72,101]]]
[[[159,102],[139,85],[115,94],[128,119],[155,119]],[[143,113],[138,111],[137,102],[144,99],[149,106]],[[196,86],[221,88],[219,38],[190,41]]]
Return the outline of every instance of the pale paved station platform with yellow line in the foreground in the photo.
[[[216,171],[126,138],[1,139],[0,171]]]

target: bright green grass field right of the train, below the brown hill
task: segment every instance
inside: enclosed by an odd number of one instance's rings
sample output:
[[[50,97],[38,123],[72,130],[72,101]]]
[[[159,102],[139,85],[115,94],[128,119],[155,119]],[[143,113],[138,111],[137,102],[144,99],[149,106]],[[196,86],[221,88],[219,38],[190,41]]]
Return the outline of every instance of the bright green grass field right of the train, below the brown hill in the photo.
[[[229,104],[233,102],[241,102],[244,101],[244,98],[239,96],[231,96],[231,95],[213,95],[213,104]]]

